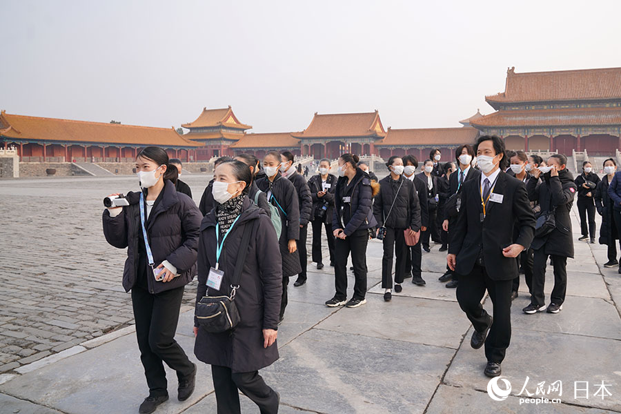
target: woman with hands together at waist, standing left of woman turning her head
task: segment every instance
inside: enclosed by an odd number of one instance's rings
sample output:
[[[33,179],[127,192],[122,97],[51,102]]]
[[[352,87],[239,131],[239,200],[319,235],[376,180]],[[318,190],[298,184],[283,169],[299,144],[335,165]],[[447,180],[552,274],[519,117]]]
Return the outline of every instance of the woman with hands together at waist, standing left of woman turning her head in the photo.
[[[313,226],[313,262],[317,269],[324,268],[322,259],[322,226],[326,228],[328,237],[328,251],[330,252],[330,266],[334,266],[334,235],[332,234],[332,212],[334,210],[334,192],[337,178],[330,174],[330,160],[319,161],[319,174],[308,180],[313,199],[311,224]]]

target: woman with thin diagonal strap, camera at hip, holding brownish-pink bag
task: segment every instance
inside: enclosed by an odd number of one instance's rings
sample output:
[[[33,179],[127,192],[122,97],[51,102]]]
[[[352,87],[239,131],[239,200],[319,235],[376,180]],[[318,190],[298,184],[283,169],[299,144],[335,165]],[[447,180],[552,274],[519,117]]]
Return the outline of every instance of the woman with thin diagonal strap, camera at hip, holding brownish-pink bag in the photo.
[[[386,163],[391,175],[380,180],[380,195],[373,203],[373,215],[377,221],[377,238],[384,242],[382,257],[382,288],[384,300],[392,299],[393,255],[397,255],[395,269],[395,292],[402,291],[401,284],[406,273],[406,233],[418,242],[420,236],[420,205],[411,180],[403,177],[403,161],[393,156]],[[416,244],[416,243],[414,243]]]

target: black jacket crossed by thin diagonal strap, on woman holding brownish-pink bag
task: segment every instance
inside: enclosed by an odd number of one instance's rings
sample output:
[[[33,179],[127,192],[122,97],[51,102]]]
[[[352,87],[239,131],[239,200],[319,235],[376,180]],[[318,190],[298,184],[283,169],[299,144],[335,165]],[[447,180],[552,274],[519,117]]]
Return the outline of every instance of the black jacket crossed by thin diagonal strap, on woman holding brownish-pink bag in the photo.
[[[391,175],[380,180],[380,194],[373,201],[373,215],[378,226],[418,231],[421,225],[420,214],[418,195],[412,181],[403,175],[397,181]]]

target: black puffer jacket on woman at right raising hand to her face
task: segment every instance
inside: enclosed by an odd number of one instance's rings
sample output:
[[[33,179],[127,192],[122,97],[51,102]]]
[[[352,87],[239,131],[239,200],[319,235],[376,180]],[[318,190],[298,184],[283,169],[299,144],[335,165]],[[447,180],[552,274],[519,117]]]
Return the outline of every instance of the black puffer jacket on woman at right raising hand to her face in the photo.
[[[544,253],[547,255],[573,257],[573,237],[569,216],[575,193],[577,193],[573,177],[567,169],[560,170],[558,177],[551,177],[549,172],[542,177],[544,179],[538,186],[539,180],[531,176],[526,183],[526,190],[529,192],[531,201],[539,201],[542,212],[556,208],[554,214],[556,228],[549,235],[535,237],[531,248],[533,250],[544,248]]]

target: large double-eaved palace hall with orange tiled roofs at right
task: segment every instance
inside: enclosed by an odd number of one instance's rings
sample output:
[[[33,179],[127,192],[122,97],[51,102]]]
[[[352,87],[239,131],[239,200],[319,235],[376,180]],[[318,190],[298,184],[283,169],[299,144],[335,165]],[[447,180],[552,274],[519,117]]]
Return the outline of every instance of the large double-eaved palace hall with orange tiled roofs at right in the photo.
[[[486,101],[496,110],[472,119],[513,150],[614,155],[621,148],[621,68],[516,73]]]

